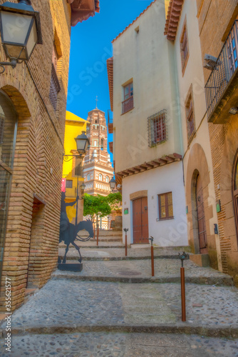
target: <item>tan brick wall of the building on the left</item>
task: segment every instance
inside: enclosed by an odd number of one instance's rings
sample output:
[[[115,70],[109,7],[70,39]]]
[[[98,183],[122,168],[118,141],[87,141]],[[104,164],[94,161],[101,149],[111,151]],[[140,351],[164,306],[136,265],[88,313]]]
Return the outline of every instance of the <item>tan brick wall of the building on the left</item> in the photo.
[[[32,5],[40,12],[43,45],[36,45],[28,64],[6,68],[0,75],[0,89],[19,116],[1,278],[2,311],[5,276],[11,277],[14,310],[24,301],[27,281],[29,287],[41,288],[58,258],[70,7],[66,1],[52,0],[33,0]],[[61,91],[55,111],[49,90],[56,34],[62,56],[57,69]],[[2,49],[0,56],[6,60]]]

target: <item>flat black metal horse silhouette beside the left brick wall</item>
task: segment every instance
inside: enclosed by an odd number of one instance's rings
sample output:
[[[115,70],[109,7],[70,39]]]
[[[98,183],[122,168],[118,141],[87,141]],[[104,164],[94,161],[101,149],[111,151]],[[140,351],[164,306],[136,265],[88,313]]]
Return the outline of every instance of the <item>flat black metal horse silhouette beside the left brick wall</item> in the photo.
[[[68,203],[65,202],[65,198],[66,198],[66,193],[61,192],[61,226],[60,226],[59,243],[63,241],[66,244],[66,253],[63,257],[62,263],[66,263],[66,255],[68,253],[68,248],[70,244],[72,244],[78,251],[79,254],[78,261],[81,263],[82,256],[81,256],[80,248],[79,246],[77,246],[75,241],[89,241],[90,238],[93,238],[93,222],[90,221],[90,219],[88,219],[87,221],[81,221],[76,225],[70,223],[66,213],[66,207],[74,206],[78,201],[78,196],[76,198],[76,201],[68,202]],[[88,231],[88,236],[86,238],[78,235],[78,232],[83,231],[83,229]],[[58,263],[61,263],[61,258],[59,257],[58,257]]]

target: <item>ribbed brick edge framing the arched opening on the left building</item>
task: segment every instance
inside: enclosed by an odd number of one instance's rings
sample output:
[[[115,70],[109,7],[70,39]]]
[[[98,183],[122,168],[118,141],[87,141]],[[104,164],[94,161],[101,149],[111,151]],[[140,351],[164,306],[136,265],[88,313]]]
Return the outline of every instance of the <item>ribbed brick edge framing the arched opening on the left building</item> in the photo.
[[[18,118],[3,263],[3,278],[10,276],[12,280],[12,309],[14,310],[24,299],[27,279],[32,280],[28,273],[29,262],[32,261],[32,256],[35,256],[35,246],[31,244],[33,240],[31,228],[33,195],[36,191],[38,174],[38,140],[36,124],[33,123],[33,116],[24,96],[9,84],[3,86],[1,91],[13,104]],[[34,114],[36,115],[36,110]],[[43,219],[42,214],[41,218]],[[2,286],[4,286],[3,278]]]

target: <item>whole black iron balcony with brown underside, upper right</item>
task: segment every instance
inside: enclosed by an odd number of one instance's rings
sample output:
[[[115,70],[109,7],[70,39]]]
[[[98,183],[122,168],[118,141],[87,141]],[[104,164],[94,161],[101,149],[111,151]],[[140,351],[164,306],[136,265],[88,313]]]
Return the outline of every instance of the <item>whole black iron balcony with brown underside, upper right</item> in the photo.
[[[238,20],[234,21],[231,31],[219,53],[214,69],[205,85],[208,121],[223,124],[228,120],[229,108],[234,105],[234,89],[238,73]],[[223,100],[224,99],[224,100]],[[237,101],[237,99],[235,99]],[[221,115],[224,109],[224,115]]]

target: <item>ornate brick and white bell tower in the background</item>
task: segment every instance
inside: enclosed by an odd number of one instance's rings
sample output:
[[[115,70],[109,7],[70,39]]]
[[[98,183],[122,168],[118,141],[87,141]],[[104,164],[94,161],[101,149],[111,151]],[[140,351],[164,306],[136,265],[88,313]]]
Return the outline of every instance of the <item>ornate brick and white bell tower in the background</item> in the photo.
[[[110,179],[113,177],[113,167],[108,154],[108,131],[105,113],[98,108],[89,111],[90,126],[87,136],[90,140],[83,162],[83,176],[85,178],[85,192],[96,196],[108,196],[110,193]]]

